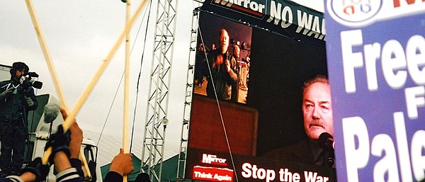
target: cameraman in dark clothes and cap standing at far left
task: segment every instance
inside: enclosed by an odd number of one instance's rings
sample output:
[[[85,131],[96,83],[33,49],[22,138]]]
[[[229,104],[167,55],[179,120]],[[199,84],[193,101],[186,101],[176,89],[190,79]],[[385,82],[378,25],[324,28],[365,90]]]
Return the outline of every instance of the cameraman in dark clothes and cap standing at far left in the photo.
[[[38,106],[33,87],[20,81],[28,71],[25,63],[14,62],[11,79],[0,82],[0,176],[18,175],[22,168],[28,111]]]

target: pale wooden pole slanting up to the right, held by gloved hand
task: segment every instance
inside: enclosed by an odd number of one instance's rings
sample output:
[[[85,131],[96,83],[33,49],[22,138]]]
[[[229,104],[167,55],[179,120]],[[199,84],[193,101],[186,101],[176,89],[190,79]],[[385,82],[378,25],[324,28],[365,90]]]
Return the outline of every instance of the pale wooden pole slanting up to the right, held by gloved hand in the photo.
[[[121,43],[123,42],[124,36],[127,34],[127,32],[132,27],[132,24],[135,22],[135,19],[139,16],[140,11],[142,11],[142,8],[146,4],[146,0],[143,0],[140,6],[137,8],[135,14],[132,16],[130,21],[126,23],[125,28],[123,32],[118,37],[118,40],[115,42],[115,45],[113,46],[112,50],[108,53],[105,59],[103,59],[103,63],[101,64],[101,67],[99,67],[98,71],[94,75],[93,79],[89,82],[89,85],[87,86],[86,90],[81,94],[79,100],[77,101],[76,105],[74,106],[74,109],[71,113],[69,113],[67,119],[64,121],[64,124],[62,125],[64,127],[64,130],[67,131],[69,129],[69,126],[72,124],[72,121],[75,119],[75,116],[81,109],[81,106],[83,106],[84,102],[86,101],[87,97],[93,90],[95,84],[97,83],[98,79],[100,78],[103,71],[106,69],[106,66],[108,66],[108,63],[111,61],[111,58],[113,55],[115,55],[115,52],[117,52],[118,47],[120,47]],[[48,148],[45,151],[45,154],[42,156],[42,163],[47,164],[47,160],[50,157],[50,154],[52,154],[52,148]]]

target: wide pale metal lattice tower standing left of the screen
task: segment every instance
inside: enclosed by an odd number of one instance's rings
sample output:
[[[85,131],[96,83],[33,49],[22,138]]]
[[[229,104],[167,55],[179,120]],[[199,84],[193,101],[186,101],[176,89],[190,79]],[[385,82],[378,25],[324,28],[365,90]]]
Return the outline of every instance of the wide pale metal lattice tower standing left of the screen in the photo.
[[[141,170],[161,181],[178,0],[158,0]],[[159,172],[154,166],[159,165]]]

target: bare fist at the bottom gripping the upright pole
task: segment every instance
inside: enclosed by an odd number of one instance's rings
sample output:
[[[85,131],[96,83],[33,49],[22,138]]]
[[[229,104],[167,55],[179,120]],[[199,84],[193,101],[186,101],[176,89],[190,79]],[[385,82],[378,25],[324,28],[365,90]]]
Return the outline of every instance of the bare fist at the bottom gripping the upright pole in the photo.
[[[131,158],[132,154],[124,154],[123,149],[120,149],[120,154],[112,159],[109,171],[115,171],[121,176],[130,174],[134,169]]]

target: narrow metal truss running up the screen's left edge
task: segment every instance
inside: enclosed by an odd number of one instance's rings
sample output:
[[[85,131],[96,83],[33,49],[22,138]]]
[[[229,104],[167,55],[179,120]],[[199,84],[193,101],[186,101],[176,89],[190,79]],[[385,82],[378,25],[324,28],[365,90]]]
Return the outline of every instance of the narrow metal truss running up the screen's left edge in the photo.
[[[198,20],[199,8],[193,10],[192,28],[191,28],[191,44],[189,49],[188,72],[186,76],[186,96],[183,109],[183,125],[181,127],[181,140],[179,152],[179,164],[177,164],[177,177],[184,178],[186,171],[186,155],[188,149],[189,123],[191,118],[192,94],[193,94],[193,71],[195,69],[195,58],[198,38]]]

